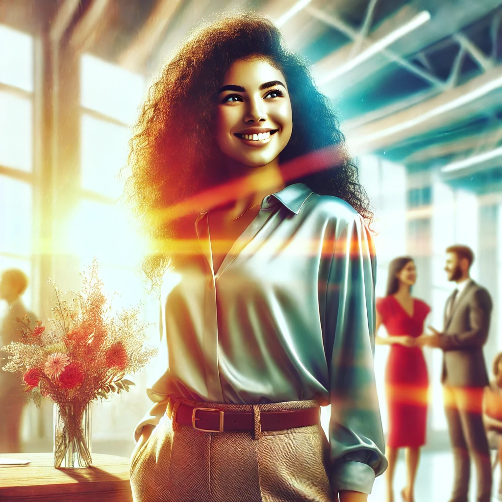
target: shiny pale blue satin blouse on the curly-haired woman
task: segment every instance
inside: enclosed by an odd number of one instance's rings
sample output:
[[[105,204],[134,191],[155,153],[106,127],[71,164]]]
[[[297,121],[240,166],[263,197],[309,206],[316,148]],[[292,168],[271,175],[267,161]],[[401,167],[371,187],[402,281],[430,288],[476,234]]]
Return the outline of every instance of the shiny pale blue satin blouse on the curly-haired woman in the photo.
[[[266,197],[213,271],[207,213],[200,253],[170,273],[161,293],[156,425],[167,397],[260,404],[331,403],[330,481],[369,493],[384,436],[373,352],[375,254],[360,215],[298,183]]]

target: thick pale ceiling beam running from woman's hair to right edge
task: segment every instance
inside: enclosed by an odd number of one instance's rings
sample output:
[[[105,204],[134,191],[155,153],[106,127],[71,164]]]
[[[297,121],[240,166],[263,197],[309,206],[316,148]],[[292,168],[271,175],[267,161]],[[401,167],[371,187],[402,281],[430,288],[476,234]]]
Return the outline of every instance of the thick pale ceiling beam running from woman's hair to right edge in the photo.
[[[357,147],[358,154],[362,151],[372,152],[479,113],[482,98],[489,97],[485,105],[493,106],[493,98],[488,94],[501,87],[502,65],[499,65],[465,84],[393,115],[355,128],[351,127],[350,122],[345,122],[343,128],[351,146]]]

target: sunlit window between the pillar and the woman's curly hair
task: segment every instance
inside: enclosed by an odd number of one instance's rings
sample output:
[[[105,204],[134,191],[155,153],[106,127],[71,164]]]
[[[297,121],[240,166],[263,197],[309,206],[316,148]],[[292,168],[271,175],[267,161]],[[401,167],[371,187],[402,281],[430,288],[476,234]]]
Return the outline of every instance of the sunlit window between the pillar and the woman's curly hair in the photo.
[[[81,59],[81,198],[71,237],[74,253],[88,264],[96,256],[102,274],[134,276],[141,260],[141,239],[134,237],[126,211],[117,203],[123,190],[119,171],[127,162],[131,126],[137,118],[145,81],[123,68],[89,54]],[[112,272],[114,271],[114,272]],[[120,281],[123,283],[123,281]],[[119,304],[138,303],[143,287],[124,284],[120,295],[136,291],[136,299],[122,296]],[[106,281],[105,288],[116,286]],[[128,293],[126,293],[128,292]]]

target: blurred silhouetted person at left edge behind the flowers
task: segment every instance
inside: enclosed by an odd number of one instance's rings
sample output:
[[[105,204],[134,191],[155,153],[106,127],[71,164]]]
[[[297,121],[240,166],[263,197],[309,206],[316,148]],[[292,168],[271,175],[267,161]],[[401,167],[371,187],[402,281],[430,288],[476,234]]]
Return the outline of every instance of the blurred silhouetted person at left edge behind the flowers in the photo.
[[[32,323],[35,316],[29,312],[21,296],[28,287],[28,277],[19,269],[8,269],[0,276],[0,299],[8,304],[6,315],[0,319],[0,347],[11,342],[20,341],[23,324],[28,315]],[[2,352],[6,357],[7,355]],[[2,357],[0,355],[0,357]],[[0,359],[0,367],[2,366]],[[17,453],[21,451],[21,414],[26,403],[23,385],[15,373],[0,370],[0,453]]]

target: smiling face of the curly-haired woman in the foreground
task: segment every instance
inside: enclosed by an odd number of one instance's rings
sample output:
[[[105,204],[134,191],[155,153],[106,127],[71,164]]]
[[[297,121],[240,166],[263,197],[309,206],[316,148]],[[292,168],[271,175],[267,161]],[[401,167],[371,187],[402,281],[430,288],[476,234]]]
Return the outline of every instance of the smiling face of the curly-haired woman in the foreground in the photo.
[[[216,143],[247,167],[266,166],[291,138],[293,118],[284,75],[264,59],[235,61],[216,105]]]

